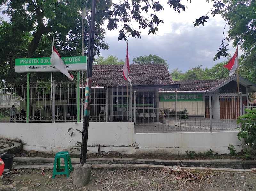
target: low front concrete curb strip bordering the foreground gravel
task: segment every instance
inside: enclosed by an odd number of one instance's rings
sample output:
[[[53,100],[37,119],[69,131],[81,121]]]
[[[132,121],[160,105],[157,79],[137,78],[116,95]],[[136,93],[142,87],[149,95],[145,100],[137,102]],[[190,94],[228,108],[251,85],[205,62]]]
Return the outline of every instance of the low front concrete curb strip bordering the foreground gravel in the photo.
[[[13,169],[42,169],[52,170],[53,166],[47,165],[15,165]],[[172,166],[154,165],[154,164],[92,164],[92,170],[96,169],[163,169],[172,168]],[[230,169],[230,168],[203,168],[203,167],[180,167],[180,169],[197,169],[201,171],[220,171],[220,172],[255,172],[253,169]]]

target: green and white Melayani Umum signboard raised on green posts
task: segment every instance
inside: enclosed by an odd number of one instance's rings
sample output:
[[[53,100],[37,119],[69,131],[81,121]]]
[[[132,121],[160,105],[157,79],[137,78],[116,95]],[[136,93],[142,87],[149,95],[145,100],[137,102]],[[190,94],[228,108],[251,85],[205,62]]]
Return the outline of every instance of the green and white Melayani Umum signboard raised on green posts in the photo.
[[[68,71],[86,70],[87,57],[61,57]],[[15,72],[50,72],[59,71],[51,64],[51,58],[15,59]]]

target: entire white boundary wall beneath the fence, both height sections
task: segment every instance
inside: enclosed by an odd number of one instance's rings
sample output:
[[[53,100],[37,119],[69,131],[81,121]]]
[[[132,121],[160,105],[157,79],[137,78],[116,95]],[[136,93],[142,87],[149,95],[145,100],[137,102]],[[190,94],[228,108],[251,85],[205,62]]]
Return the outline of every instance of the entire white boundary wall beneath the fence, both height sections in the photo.
[[[69,132],[68,129],[72,128]],[[76,147],[81,141],[82,123],[0,123],[1,139],[21,139],[25,150],[49,153]],[[75,131],[74,131],[75,130]],[[74,135],[70,134],[74,131]],[[90,123],[88,153],[117,151],[122,154],[186,154],[186,151],[206,152],[212,149],[220,154],[229,153],[228,145],[242,150],[244,141],[237,138],[238,131],[134,133],[134,123]],[[79,154],[75,148],[73,153]]]

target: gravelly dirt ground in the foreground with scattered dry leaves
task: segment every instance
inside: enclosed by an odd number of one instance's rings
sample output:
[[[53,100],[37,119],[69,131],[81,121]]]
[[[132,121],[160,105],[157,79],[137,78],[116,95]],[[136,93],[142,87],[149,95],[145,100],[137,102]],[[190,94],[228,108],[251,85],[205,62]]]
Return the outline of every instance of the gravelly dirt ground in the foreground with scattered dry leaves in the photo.
[[[144,170],[92,170],[89,184],[85,187],[73,185],[72,176],[58,175],[52,179],[52,171],[47,170],[42,175],[40,170],[17,170],[4,175],[1,185],[12,184],[16,190],[33,191],[244,191],[256,190],[255,172],[211,172],[201,170],[183,170],[171,172],[170,169]],[[27,188],[24,188],[27,187]],[[2,186],[2,190],[3,186]]]

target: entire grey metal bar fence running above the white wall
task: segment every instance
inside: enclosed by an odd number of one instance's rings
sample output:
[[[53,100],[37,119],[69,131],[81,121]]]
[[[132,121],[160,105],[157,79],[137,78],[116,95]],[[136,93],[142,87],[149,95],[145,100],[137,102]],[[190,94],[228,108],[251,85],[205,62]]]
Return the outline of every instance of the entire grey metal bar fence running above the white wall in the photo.
[[[79,87],[79,88],[77,88]],[[82,122],[77,82],[4,84],[0,122]],[[29,91],[29,92],[28,92]],[[83,90],[85,95],[85,88]],[[28,103],[27,103],[28,101]],[[159,92],[156,88],[97,86],[91,91],[91,122],[134,122],[135,133],[233,130],[246,94]],[[12,107],[14,105],[14,108]]]

